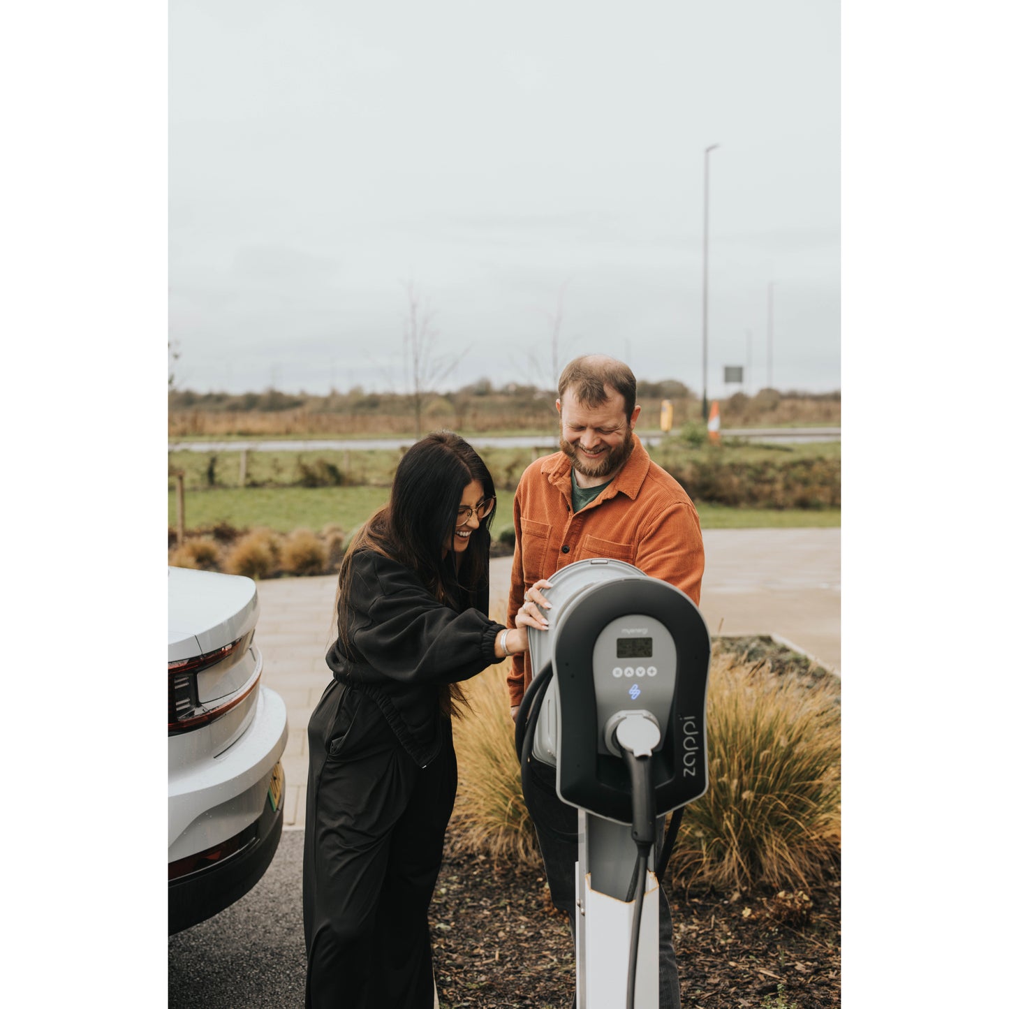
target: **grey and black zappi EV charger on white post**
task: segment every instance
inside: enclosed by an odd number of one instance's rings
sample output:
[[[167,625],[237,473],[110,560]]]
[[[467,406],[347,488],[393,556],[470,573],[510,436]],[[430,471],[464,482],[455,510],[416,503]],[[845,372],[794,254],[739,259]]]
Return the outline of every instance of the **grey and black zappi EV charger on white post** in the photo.
[[[535,696],[516,739],[557,768],[558,796],[578,809],[577,1006],[657,1009],[652,826],[707,789],[711,640],[686,594],[632,564],[592,558],[549,580],[550,629],[529,631]]]

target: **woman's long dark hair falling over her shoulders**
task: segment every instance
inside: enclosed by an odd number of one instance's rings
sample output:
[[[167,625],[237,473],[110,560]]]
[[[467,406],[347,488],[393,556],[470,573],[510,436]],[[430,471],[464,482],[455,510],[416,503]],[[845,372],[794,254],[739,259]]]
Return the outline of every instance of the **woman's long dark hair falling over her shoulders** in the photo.
[[[340,564],[340,586],[350,584],[357,552],[374,550],[416,571],[428,591],[445,605],[461,612],[478,604],[485,598],[489,581],[489,527],[496,504],[470,536],[465,551],[456,554],[450,550],[442,557],[458,522],[462,492],[473,480],[483,488],[481,497],[494,496],[494,481],[486,464],[454,432],[435,431],[412,445],[397,466],[388,503],[351,540]],[[348,606],[349,600],[338,592],[336,610],[341,627],[349,626]],[[457,684],[443,688],[446,712],[457,714],[460,703],[465,702]]]

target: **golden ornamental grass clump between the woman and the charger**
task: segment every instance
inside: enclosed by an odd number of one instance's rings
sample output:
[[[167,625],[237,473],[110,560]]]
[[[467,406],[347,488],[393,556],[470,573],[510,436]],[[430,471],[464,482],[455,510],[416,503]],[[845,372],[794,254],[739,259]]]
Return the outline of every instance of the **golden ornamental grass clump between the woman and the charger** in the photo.
[[[470,710],[453,721],[459,764],[448,848],[498,862],[537,866],[540,850],[522,797],[515,723],[509,710],[508,663],[462,684]]]

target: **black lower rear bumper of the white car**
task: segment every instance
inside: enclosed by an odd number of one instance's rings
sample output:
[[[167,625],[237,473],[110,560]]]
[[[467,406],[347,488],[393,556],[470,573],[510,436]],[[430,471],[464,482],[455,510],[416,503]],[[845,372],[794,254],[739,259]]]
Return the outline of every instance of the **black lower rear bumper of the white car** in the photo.
[[[224,910],[245,896],[269,868],[284,827],[287,788],[279,763],[273,769],[273,777],[272,798],[267,791],[258,819],[213,849],[170,863],[169,934]],[[174,872],[182,875],[173,879]]]

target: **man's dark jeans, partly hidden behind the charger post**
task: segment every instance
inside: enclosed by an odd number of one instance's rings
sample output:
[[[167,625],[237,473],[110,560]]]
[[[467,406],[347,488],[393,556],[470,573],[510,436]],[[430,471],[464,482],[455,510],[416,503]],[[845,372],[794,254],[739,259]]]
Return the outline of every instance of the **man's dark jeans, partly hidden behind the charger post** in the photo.
[[[536,826],[536,836],[543,855],[543,867],[550,885],[550,899],[555,907],[565,911],[574,936],[575,877],[578,861],[578,810],[557,797],[557,770],[533,758],[530,791],[526,805]],[[571,836],[562,840],[554,835],[560,831]],[[662,849],[662,836],[656,839],[656,851]],[[673,919],[669,901],[659,886],[659,1009],[680,1009],[680,982],[676,974],[673,952]]]

